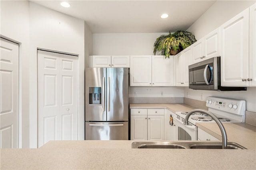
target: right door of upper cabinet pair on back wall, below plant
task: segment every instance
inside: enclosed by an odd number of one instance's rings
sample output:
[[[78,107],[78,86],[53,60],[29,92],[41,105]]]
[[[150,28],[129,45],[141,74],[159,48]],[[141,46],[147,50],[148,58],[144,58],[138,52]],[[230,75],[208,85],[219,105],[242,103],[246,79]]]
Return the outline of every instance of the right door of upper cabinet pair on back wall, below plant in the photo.
[[[152,56],[152,86],[173,86],[173,56]]]

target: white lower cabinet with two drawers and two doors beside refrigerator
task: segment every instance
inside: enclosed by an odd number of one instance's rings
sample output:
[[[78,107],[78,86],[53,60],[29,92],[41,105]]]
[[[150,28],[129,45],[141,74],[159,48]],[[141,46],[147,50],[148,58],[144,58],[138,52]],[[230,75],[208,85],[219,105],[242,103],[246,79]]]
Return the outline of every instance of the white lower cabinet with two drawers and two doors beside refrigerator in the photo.
[[[131,109],[131,140],[164,140],[164,109]]]

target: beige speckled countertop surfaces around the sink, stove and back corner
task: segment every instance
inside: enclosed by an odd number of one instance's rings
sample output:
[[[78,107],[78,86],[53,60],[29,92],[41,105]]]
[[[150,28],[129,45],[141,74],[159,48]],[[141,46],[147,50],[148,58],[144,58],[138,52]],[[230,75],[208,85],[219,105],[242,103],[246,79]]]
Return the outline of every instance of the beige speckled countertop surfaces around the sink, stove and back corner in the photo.
[[[130,104],[130,108],[167,108],[190,111],[186,104]],[[198,127],[220,138],[215,123]],[[255,170],[256,131],[246,123],[225,123],[229,142],[235,149],[132,149],[134,141],[50,141],[39,149],[1,149],[4,169],[194,169]]]

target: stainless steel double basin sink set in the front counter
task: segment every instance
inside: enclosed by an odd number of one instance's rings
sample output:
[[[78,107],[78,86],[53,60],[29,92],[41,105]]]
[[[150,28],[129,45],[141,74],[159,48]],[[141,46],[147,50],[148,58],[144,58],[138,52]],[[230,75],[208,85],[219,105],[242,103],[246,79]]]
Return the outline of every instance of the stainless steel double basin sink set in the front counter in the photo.
[[[133,142],[132,148],[142,149],[222,149],[222,142]],[[228,142],[226,149],[246,149],[237,143]]]

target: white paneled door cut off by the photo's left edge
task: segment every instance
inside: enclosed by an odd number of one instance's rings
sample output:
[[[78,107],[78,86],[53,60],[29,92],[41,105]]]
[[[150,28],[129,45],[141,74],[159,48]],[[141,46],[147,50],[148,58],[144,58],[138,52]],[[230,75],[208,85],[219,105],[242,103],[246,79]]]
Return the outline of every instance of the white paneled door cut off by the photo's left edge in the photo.
[[[19,45],[0,42],[0,147],[18,148]]]

